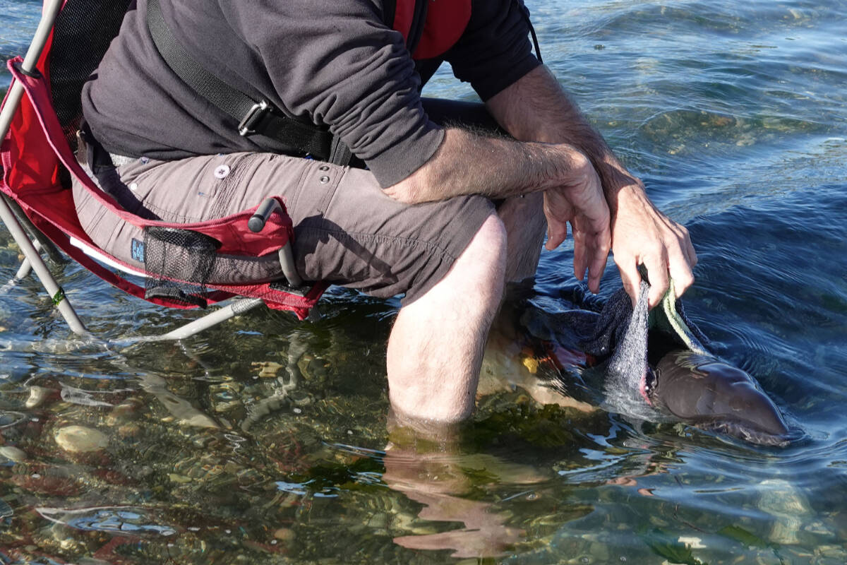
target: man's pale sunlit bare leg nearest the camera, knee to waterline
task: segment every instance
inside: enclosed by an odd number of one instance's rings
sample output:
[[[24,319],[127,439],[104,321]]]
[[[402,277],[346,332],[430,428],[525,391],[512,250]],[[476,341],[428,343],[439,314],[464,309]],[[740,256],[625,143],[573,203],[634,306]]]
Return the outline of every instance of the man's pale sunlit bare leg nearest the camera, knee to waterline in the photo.
[[[503,295],[507,233],[491,214],[444,279],[402,307],[388,341],[398,418],[457,422],[473,412],[485,340]]]

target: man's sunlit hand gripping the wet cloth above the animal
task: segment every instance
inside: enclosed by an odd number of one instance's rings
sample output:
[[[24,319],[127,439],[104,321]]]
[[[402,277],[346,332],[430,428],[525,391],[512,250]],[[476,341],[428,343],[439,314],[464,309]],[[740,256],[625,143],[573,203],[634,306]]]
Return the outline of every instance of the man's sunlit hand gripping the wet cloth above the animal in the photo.
[[[668,273],[673,278],[676,297],[694,283],[691,269],[697,253],[688,230],[660,212],[645,195],[639,181],[606,193],[612,203],[612,253],[620,271],[623,287],[635,300],[641,277],[638,266],[644,264],[650,277],[650,307],[662,301],[667,291]]]

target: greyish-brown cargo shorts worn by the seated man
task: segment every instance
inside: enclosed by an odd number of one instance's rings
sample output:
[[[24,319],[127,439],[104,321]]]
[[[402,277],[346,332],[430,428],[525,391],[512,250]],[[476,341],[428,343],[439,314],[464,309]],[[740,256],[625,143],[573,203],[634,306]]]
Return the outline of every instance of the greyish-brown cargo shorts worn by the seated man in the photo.
[[[177,161],[133,159],[99,175],[131,213],[168,222],[198,222],[281,197],[294,224],[294,254],[304,280],[325,280],[372,296],[405,294],[412,302],[451,268],[495,207],[484,197],[401,204],[374,175],[312,159],[241,152]],[[143,269],[134,240],[141,229],[119,219],[75,182],[80,224],[91,240]],[[230,263],[235,264],[235,263]],[[213,274],[214,283],[259,282],[280,275],[275,253]]]

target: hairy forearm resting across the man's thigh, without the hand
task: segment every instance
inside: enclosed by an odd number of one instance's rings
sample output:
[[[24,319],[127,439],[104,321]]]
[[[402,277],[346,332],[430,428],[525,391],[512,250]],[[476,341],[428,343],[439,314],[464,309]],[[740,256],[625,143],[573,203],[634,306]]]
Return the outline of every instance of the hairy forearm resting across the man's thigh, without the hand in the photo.
[[[578,183],[588,174],[594,174],[592,164],[575,147],[449,128],[435,155],[385,192],[407,203],[469,194],[507,198]]]

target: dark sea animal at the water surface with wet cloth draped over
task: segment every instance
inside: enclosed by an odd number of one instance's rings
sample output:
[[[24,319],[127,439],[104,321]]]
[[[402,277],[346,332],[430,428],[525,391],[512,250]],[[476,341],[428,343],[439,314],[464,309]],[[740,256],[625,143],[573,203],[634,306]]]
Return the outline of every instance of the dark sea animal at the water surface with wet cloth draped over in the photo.
[[[789,432],[783,415],[750,374],[723,362],[674,298],[673,281],[662,303],[647,314],[642,283],[632,306],[623,289],[599,316],[573,315],[587,335],[580,344],[608,359],[606,379],[636,387],[650,406],[666,415],[721,434],[767,446],[784,446]]]

